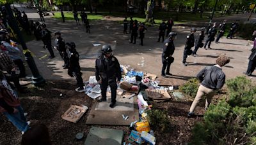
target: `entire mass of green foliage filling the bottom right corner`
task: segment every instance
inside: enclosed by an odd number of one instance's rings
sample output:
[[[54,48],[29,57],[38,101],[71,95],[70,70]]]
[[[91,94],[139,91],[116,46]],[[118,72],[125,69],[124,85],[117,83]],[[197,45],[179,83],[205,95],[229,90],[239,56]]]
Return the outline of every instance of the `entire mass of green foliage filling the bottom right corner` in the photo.
[[[227,96],[209,106],[190,144],[255,144],[256,86],[244,76],[227,80]]]

